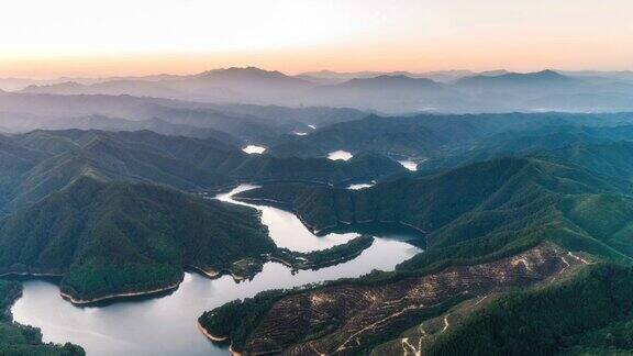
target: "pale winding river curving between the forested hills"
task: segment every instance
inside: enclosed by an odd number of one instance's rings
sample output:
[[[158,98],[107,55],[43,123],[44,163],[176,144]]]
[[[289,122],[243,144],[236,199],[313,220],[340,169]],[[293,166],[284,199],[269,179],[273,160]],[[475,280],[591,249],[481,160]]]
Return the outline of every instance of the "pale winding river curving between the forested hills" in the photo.
[[[240,186],[216,199],[236,202],[232,196],[253,186]],[[247,204],[251,205],[251,204]],[[255,207],[255,205],[252,205]],[[278,246],[296,251],[322,249],[344,243],[358,234],[331,233],[315,236],[292,213],[271,207],[256,207]],[[373,269],[390,270],[420,252],[404,241],[411,232],[380,232],[375,243],[355,259],[292,274],[277,263],[267,263],[252,280],[235,282],[231,277],[208,279],[187,272],[170,294],[118,301],[99,307],[75,307],[59,296],[53,281],[29,279],[24,293],[11,309],[16,322],[42,329],[45,342],[71,342],[96,355],[226,355],[227,346],[212,344],[196,329],[206,310],[257,292],[291,288],[342,277],[357,277]]]

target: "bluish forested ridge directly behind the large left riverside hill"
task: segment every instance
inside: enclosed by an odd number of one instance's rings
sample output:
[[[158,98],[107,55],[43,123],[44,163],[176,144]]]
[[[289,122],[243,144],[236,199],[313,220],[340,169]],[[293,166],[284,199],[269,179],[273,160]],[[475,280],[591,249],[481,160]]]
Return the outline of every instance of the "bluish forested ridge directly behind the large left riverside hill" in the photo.
[[[247,155],[207,138],[149,131],[34,131],[0,136],[0,210],[26,207],[82,175],[200,191],[242,181],[298,180],[341,185],[403,171],[396,162],[360,155],[349,163]]]

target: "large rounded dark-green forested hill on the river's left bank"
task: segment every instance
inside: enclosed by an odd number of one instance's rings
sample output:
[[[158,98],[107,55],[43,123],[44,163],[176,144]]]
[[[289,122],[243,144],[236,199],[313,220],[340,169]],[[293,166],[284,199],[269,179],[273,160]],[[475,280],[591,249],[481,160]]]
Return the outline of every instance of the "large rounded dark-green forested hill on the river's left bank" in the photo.
[[[256,270],[275,249],[254,209],[89,176],[0,223],[0,272],[62,275],[78,301],[175,288],[187,266]]]

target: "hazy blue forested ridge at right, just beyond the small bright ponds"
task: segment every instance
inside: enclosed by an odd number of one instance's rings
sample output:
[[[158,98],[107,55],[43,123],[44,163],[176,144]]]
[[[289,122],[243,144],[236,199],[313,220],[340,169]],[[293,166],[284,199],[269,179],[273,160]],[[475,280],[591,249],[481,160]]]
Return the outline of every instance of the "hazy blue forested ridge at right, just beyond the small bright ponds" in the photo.
[[[504,113],[411,116],[371,115],[362,120],[335,123],[304,136],[282,136],[268,152],[280,157],[321,157],[334,151],[378,152],[392,157],[415,160],[447,159],[454,156],[519,152],[530,143],[513,143],[547,134],[575,136],[584,142],[628,140],[633,115],[567,114],[567,113]],[[558,137],[562,138],[562,137]],[[574,138],[564,138],[570,142]],[[562,147],[557,141],[541,142],[536,149]],[[563,141],[564,142],[564,141]],[[467,157],[465,157],[467,158]],[[485,160],[480,159],[480,160]],[[454,166],[453,166],[454,167]]]

